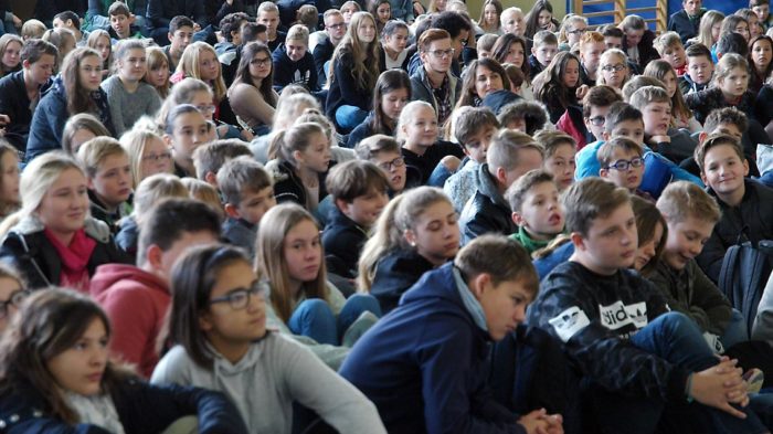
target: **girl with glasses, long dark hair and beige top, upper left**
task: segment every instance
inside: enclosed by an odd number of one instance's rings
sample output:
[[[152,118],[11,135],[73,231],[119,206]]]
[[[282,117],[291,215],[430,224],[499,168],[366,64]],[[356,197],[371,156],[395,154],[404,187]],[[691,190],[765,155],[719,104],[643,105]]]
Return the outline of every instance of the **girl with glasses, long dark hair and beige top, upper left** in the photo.
[[[273,83],[274,65],[268,46],[257,41],[245,45],[229,88],[229,100],[240,123],[255,136],[268,134],[274,123],[279,95],[272,87]]]

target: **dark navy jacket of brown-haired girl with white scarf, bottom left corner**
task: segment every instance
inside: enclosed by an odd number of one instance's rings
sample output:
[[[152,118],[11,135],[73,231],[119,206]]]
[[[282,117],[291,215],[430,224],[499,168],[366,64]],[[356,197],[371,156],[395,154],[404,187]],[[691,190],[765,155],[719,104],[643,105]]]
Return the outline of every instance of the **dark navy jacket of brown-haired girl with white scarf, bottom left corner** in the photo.
[[[160,433],[176,420],[198,415],[199,433],[241,434],[247,428],[233,404],[221,393],[179,385],[151,385],[129,379],[112,392],[126,434]],[[107,434],[87,424],[70,425],[49,414],[32,385],[0,398],[0,432],[7,434]]]

